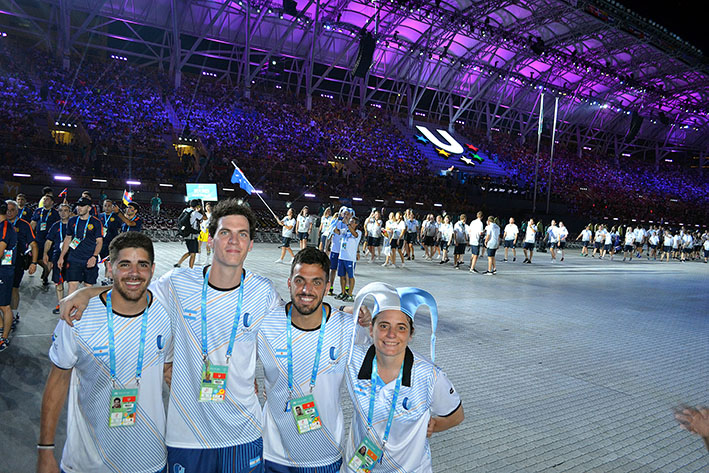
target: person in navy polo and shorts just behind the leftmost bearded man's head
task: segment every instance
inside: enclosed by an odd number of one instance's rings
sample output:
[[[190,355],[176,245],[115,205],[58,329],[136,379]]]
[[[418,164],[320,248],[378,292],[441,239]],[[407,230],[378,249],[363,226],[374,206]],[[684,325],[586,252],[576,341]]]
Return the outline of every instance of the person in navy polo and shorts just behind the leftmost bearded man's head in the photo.
[[[103,232],[99,219],[89,215],[91,204],[85,197],[76,202],[77,216],[69,219],[62,252],[57,260],[60,268],[67,262],[66,280],[69,283],[69,294],[78,289],[79,283],[92,286],[98,279]]]

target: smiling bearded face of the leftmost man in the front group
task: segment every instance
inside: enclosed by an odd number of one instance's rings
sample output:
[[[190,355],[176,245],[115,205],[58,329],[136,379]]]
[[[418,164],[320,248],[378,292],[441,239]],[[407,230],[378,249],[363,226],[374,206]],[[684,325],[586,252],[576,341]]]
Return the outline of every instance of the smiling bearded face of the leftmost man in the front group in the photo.
[[[143,248],[124,248],[115,262],[108,262],[108,272],[113,276],[113,288],[123,299],[137,302],[145,296],[155,272],[148,252]]]

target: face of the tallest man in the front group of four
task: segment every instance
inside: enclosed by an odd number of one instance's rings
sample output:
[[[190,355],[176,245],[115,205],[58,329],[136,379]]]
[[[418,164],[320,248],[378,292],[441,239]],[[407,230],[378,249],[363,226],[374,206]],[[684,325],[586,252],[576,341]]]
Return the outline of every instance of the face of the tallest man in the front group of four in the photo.
[[[249,221],[243,215],[227,215],[219,219],[212,239],[214,266],[238,268],[254,246]]]

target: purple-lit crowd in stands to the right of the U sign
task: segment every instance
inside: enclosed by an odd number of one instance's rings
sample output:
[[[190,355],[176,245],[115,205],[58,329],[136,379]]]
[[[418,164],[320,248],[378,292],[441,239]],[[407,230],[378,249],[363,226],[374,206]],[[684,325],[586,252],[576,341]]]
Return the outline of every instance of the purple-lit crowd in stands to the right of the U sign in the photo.
[[[533,146],[520,144],[505,134],[488,138],[484,132],[466,131],[476,134],[483,150],[498,158],[521,187],[534,188]],[[542,150],[538,172],[542,198],[546,196],[549,166],[549,153]],[[551,188],[552,196],[565,202],[570,210],[593,219],[706,222],[709,217],[709,181],[679,166],[657,171],[654,165],[631,158],[623,158],[617,166],[592,152],[584,151],[579,157],[575,149],[557,147]]]

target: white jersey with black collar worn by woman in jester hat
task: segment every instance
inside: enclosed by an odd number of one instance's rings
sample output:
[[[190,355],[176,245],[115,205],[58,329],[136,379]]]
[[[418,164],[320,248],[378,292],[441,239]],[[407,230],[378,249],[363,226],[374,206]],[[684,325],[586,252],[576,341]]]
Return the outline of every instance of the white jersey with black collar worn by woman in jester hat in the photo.
[[[374,346],[355,345],[348,366],[347,388],[354,404],[350,436],[345,445],[346,463],[367,435],[367,414],[372,386],[372,360]],[[382,438],[389,417],[396,380],[388,384],[377,378],[373,427],[382,447]],[[432,472],[431,450],[426,431],[431,415],[447,416],[460,406],[460,397],[445,373],[428,359],[408,348],[404,357],[401,391],[396,402],[394,422],[384,449],[378,473]],[[374,437],[374,435],[372,435]]]

